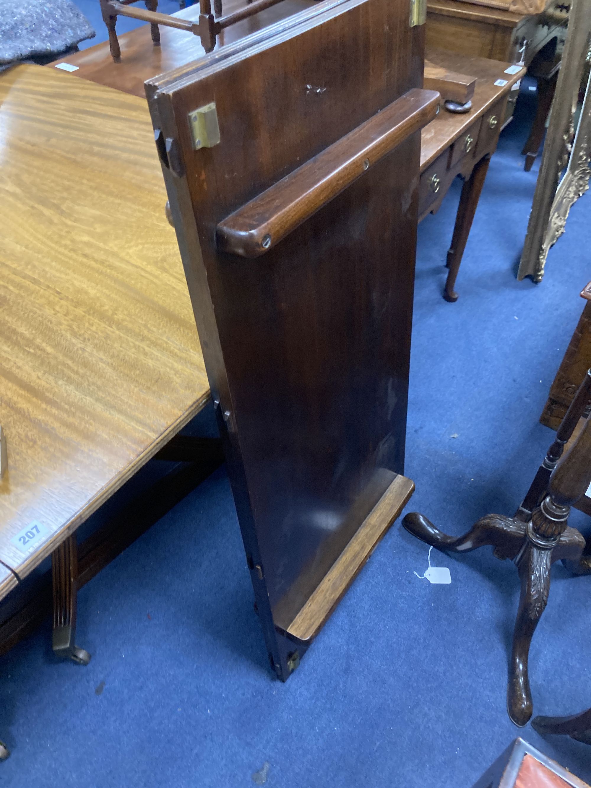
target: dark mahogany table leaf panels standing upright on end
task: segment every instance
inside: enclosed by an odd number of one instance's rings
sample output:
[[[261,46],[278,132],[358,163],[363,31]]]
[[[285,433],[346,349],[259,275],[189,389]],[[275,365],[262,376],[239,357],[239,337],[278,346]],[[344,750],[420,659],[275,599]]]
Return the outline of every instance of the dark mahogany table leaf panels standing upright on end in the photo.
[[[232,46],[147,95],[177,149],[162,171],[269,662],[286,679],[294,644],[276,623],[403,473],[420,133],[256,265],[220,251],[214,229],[421,87],[423,30],[401,3],[325,0]],[[221,143],[195,151],[188,113],[210,101]]]

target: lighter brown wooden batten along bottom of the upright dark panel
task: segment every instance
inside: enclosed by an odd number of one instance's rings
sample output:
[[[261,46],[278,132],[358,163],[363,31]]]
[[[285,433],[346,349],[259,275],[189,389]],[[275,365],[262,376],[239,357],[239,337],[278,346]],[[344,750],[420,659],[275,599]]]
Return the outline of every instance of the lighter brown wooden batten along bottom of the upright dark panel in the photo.
[[[411,479],[396,476],[288,626],[285,631],[287,637],[304,643],[316,637],[413,492],[414,482]]]

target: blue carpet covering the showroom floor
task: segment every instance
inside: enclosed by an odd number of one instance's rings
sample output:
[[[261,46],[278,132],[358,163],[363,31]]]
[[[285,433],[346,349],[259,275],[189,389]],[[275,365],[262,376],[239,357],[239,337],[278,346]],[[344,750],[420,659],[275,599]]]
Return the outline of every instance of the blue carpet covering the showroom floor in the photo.
[[[591,279],[591,198],[574,206],[542,284],[515,280],[537,165],[532,117],[500,139],[455,304],[441,299],[459,184],[419,229],[407,475],[411,508],[460,533],[511,514],[552,440],[538,423]],[[204,414],[203,419],[210,414]],[[587,528],[576,512],[574,524]],[[486,548],[433,552],[392,527],[298,671],[273,679],[236,512],[217,471],[80,592],[88,667],[57,663],[49,624],[0,660],[0,786],[470,788],[515,736],[591,780],[591,748],[507,718],[519,587]],[[533,640],[537,713],[591,706],[591,578],[553,571]]]

